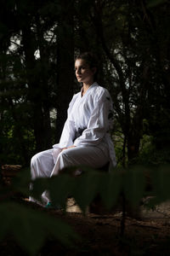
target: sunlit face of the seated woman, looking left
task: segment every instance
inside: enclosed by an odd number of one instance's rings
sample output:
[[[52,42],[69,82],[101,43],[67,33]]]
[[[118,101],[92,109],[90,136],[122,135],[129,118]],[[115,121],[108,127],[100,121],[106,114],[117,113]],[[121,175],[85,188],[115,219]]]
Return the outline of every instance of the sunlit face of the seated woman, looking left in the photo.
[[[96,72],[96,68],[90,68],[86,61],[77,59],[75,61],[75,72],[78,82],[82,82],[83,84],[94,83],[94,73]]]

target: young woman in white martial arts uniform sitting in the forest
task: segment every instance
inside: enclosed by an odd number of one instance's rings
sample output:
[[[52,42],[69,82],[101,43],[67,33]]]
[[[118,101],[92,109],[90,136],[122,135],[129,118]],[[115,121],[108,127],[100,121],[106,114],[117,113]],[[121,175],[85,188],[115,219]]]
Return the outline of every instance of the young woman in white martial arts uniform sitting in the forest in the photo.
[[[32,157],[32,179],[58,175],[69,166],[101,168],[108,162],[116,166],[109,134],[112,101],[108,90],[96,82],[98,68],[94,55],[78,55],[75,72],[82,90],[70,102],[59,143]],[[42,201],[48,203],[47,192],[42,194]]]

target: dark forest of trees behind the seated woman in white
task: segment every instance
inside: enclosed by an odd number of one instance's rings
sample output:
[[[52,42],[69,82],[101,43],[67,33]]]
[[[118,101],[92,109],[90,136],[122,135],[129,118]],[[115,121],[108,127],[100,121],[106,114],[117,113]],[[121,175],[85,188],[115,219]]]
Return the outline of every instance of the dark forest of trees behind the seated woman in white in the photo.
[[[0,165],[29,166],[59,141],[88,50],[114,102],[118,165],[168,162],[169,24],[163,0],[1,1]]]

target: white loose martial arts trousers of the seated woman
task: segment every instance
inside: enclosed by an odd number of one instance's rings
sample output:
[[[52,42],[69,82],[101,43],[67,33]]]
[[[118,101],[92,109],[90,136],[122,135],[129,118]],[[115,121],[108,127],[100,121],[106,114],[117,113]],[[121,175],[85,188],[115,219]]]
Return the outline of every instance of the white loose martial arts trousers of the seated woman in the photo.
[[[89,166],[99,168],[109,161],[109,152],[97,147],[75,147],[61,151],[52,148],[35,154],[31,159],[31,179],[37,177],[51,177],[70,166]],[[30,198],[31,201],[34,201]],[[42,194],[42,201],[48,202],[48,192]]]

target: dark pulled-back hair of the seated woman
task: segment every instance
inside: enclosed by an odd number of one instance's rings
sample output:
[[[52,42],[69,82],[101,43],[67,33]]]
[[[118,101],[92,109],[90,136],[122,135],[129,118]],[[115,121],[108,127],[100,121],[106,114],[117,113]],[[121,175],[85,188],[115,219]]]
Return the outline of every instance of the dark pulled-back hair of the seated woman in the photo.
[[[96,81],[99,71],[99,65],[96,55],[94,55],[94,53],[92,52],[83,52],[82,54],[76,56],[75,61],[80,59],[86,61],[90,68],[96,67],[96,73],[94,73],[94,81]]]

